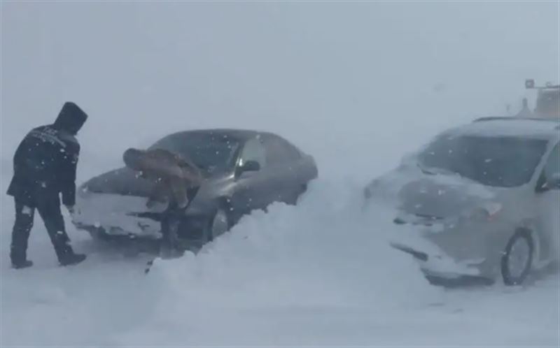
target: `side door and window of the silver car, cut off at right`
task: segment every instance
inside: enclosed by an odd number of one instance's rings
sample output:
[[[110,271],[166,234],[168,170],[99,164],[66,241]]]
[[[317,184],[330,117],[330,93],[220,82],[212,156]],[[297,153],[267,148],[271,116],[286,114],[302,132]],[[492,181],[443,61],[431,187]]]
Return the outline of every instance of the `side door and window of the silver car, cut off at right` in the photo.
[[[540,175],[537,193],[539,230],[542,232],[540,260],[549,260],[559,256],[560,244],[560,187],[552,186],[540,189],[552,177],[560,175],[560,143],[556,143],[549,154]]]

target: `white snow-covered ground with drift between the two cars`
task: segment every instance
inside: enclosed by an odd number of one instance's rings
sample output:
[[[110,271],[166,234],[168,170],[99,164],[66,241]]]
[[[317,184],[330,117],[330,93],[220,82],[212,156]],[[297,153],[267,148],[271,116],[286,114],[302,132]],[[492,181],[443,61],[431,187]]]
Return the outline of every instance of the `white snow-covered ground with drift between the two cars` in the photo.
[[[2,345],[558,345],[558,275],[527,287],[430,286],[386,245],[390,212],[364,213],[358,194],[319,180],[298,207],[255,213],[197,256],[156,262],[148,276],[142,256],[73,230],[90,257],[59,268],[37,226],[36,266],[1,269]]]

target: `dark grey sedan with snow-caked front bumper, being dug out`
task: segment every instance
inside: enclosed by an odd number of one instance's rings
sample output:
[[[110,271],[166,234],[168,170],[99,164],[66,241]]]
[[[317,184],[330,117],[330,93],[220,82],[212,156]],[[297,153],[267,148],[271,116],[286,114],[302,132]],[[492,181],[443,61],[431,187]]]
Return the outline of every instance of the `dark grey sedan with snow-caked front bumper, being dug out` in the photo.
[[[318,171],[313,157],[273,133],[207,129],[162,138],[151,149],[185,154],[202,170],[204,183],[189,191],[179,237],[201,247],[253,210],[274,202],[295,204]],[[78,189],[73,223],[94,238],[158,239],[165,203],[147,208],[153,183],[123,167]]]

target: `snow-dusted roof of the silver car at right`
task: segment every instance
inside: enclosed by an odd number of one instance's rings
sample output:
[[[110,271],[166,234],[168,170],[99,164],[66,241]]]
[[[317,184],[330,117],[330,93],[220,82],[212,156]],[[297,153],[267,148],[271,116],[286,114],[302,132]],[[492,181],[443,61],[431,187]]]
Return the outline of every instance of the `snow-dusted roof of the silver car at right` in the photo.
[[[551,139],[560,135],[560,122],[549,119],[487,117],[450,129],[449,133],[470,136],[519,136]]]

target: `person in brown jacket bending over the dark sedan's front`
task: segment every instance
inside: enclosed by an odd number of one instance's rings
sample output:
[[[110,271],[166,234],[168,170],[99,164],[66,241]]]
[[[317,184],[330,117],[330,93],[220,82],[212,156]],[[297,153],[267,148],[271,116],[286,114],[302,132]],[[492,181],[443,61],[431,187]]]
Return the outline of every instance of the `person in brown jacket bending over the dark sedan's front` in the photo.
[[[167,201],[167,209],[162,214],[162,258],[177,257],[183,254],[179,248],[179,224],[188,205],[188,189],[200,187],[202,174],[189,159],[167,150],[128,149],[123,154],[128,168],[141,173],[142,177],[155,182],[146,205],[155,201]]]

